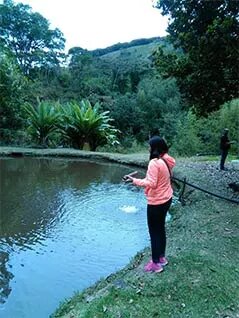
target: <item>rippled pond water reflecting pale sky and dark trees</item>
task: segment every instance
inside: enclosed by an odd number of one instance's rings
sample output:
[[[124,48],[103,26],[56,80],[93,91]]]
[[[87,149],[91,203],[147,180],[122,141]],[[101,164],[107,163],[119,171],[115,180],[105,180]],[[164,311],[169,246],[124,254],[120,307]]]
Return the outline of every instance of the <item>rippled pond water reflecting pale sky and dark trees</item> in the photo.
[[[149,245],[143,191],[121,182],[129,167],[34,158],[0,165],[0,317],[49,317]]]

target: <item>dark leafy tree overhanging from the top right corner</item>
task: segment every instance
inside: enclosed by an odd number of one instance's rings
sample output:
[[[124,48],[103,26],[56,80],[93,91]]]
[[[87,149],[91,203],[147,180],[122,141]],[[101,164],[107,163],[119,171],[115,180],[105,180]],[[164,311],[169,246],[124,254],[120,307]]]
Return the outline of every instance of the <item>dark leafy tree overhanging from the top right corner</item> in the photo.
[[[175,76],[201,115],[238,96],[239,2],[160,0],[169,15],[169,39],[178,53],[155,53],[164,76]]]

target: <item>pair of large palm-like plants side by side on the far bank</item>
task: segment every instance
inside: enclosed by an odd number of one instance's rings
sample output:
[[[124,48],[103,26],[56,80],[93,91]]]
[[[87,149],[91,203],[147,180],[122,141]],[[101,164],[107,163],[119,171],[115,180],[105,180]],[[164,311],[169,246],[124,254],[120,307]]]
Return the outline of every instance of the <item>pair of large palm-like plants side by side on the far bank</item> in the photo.
[[[24,112],[32,140],[42,147],[58,141],[83,149],[87,143],[95,151],[98,146],[118,143],[109,112],[100,112],[100,105],[93,107],[88,100],[66,105],[38,101],[37,107],[26,104]]]

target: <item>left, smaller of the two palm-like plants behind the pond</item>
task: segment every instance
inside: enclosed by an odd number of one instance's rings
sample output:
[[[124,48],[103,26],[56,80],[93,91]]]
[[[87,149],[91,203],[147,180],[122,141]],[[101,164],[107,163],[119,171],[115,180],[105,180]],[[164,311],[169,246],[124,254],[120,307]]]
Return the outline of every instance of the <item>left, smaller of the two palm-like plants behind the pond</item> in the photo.
[[[47,146],[54,133],[59,131],[60,114],[54,105],[48,102],[38,102],[37,107],[24,105],[28,120],[28,132],[39,145]]]

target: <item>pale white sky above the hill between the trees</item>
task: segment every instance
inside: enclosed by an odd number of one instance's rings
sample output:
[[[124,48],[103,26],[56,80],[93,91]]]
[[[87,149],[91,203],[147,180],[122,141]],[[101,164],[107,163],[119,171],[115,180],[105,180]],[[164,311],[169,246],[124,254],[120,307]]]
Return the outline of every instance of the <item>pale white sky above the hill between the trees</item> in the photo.
[[[152,0],[15,0],[32,7],[59,28],[66,51],[75,46],[87,50],[165,36],[167,18],[153,8]]]

